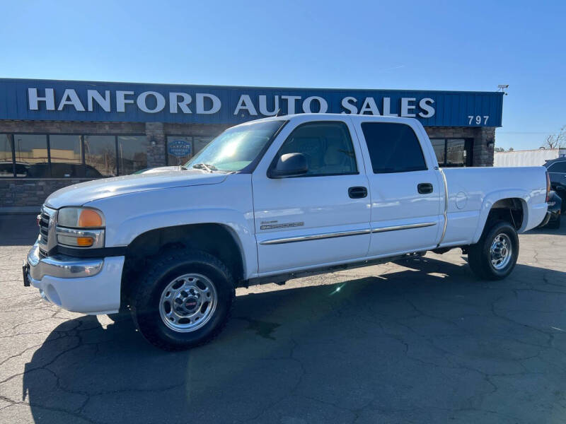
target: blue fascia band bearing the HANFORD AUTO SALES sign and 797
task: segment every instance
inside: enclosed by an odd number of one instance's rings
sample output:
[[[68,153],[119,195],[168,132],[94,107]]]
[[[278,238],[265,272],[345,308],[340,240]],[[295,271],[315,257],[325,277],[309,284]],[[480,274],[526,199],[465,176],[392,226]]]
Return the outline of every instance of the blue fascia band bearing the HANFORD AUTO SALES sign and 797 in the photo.
[[[501,126],[502,93],[0,78],[0,119],[238,124],[309,112],[414,117],[425,126]]]

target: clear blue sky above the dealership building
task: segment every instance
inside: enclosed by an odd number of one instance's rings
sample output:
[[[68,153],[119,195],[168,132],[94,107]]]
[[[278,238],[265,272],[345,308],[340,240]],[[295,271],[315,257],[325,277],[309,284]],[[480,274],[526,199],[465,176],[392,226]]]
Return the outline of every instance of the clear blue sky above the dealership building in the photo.
[[[566,1],[4,1],[0,76],[497,90],[496,146],[566,124]]]

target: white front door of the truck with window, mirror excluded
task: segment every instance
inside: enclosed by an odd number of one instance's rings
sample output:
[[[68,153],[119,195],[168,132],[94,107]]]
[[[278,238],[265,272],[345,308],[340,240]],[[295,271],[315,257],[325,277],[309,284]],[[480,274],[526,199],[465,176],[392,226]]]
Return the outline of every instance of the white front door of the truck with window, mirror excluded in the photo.
[[[369,184],[352,134],[350,119],[294,119],[264,155],[252,176],[260,275],[366,256]],[[306,174],[269,177],[287,153],[306,157]]]

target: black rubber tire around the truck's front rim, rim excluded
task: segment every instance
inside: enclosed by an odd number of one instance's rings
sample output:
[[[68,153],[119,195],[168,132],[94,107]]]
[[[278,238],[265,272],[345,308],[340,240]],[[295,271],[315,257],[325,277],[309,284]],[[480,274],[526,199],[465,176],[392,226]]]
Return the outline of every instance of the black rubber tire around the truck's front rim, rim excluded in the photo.
[[[161,294],[171,281],[187,273],[209,279],[216,290],[216,309],[206,324],[194,331],[180,332],[163,322],[159,313]],[[149,343],[165,351],[182,351],[202,345],[219,334],[228,321],[235,298],[230,270],[219,259],[200,251],[175,250],[155,257],[144,277],[130,294],[132,318]]]

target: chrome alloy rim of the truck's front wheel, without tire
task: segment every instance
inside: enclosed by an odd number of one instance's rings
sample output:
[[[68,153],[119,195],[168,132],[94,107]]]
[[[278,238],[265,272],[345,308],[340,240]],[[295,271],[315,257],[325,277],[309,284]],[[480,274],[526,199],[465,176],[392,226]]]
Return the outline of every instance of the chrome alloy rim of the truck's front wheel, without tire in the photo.
[[[209,278],[187,273],[166,285],[159,300],[159,315],[173,331],[188,333],[211,319],[218,296]]]

